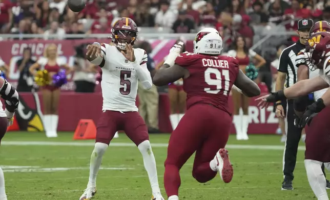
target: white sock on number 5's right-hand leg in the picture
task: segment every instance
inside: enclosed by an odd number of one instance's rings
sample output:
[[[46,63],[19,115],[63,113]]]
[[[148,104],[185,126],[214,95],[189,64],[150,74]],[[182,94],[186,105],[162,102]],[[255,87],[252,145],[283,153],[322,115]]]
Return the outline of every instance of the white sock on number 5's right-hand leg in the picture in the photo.
[[[143,157],[143,164],[147,170],[152,193],[160,192],[158,177],[157,177],[157,167],[154,153],[152,152],[149,140],[141,142],[137,146]]]

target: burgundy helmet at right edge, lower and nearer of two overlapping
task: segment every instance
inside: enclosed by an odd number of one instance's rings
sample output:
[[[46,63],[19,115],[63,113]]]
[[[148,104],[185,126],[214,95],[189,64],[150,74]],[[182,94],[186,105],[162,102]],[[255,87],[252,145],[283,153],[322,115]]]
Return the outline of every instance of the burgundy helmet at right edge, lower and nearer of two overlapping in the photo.
[[[310,36],[306,43],[307,66],[314,70],[322,60],[330,56],[330,33],[317,32]],[[318,66],[322,68],[322,66]]]

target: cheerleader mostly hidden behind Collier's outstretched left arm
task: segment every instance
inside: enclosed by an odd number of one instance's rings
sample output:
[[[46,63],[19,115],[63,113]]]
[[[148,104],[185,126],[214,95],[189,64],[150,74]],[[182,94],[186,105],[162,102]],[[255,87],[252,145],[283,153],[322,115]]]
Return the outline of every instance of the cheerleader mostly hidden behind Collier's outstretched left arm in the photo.
[[[180,42],[182,40],[177,40],[176,43]],[[181,53],[185,52],[185,45],[181,48]],[[166,60],[166,58],[164,58]],[[160,66],[164,64],[164,61],[160,62],[156,69],[159,69]],[[183,79],[180,79],[174,83],[171,83],[169,85],[169,99],[170,99],[170,121],[172,125],[172,129],[174,130],[178,124],[180,119],[184,115],[185,111],[185,98],[187,95],[183,91]]]

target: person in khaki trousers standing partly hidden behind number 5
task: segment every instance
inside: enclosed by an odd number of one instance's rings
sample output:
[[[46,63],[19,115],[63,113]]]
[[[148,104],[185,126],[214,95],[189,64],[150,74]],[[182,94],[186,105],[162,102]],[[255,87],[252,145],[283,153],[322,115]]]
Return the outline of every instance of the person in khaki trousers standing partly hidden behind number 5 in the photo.
[[[144,49],[147,52],[148,62],[147,68],[152,73],[155,70],[154,60],[149,56],[152,51],[152,47],[149,42],[142,41],[138,43],[138,47]],[[139,81],[138,90],[139,98],[139,113],[141,117],[146,121],[149,133],[159,133],[158,130],[158,91],[157,86],[153,85],[149,90],[143,88],[143,85]]]

